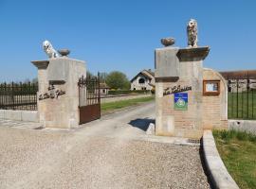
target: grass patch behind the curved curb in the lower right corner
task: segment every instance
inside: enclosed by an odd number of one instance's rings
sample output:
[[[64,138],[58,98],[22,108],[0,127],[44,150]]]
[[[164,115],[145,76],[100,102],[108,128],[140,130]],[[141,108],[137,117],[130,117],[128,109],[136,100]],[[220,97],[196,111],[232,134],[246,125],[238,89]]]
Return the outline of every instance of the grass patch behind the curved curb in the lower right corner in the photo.
[[[256,188],[256,136],[234,130],[213,130],[229,174],[241,189]]]

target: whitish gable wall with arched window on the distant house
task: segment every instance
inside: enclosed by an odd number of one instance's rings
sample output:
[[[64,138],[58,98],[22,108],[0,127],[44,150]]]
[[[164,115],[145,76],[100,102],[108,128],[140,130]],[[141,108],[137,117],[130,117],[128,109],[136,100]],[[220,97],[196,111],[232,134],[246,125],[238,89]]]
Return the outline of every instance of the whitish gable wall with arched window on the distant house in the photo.
[[[150,83],[155,85],[155,79],[149,79],[148,77],[139,74],[136,79],[131,82],[131,90],[152,90],[153,87]]]

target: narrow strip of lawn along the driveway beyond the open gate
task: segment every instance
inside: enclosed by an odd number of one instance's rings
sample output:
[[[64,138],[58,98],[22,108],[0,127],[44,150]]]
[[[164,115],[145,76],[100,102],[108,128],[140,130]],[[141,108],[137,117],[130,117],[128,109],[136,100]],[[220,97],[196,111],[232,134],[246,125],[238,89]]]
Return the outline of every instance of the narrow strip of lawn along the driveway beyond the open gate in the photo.
[[[136,106],[142,103],[153,101],[154,99],[155,99],[155,96],[149,96],[149,97],[140,97],[140,98],[129,99],[129,100],[120,100],[117,102],[102,103],[101,112],[103,114],[106,112],[114,112],[115,110],[119,110],[122,108]]]

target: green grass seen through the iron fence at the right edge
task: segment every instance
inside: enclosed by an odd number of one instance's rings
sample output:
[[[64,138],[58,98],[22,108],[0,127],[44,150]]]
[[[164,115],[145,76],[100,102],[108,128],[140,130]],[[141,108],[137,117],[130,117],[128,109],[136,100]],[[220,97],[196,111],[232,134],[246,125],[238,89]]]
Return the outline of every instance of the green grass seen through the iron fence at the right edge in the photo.
[[[256,92],[229,93],[228,116],[229,119],[256,119]]]

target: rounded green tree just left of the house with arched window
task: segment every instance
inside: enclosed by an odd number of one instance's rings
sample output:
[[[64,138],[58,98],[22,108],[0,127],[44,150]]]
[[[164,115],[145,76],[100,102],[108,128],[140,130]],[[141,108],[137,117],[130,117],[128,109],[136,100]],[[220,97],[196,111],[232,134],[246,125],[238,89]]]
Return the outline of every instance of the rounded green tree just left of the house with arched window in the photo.
[[[113,71],[106,77],[106,84],[112,89],[129,89],[130,81],[125,74],[119,71]]]

